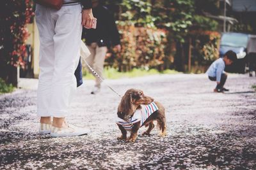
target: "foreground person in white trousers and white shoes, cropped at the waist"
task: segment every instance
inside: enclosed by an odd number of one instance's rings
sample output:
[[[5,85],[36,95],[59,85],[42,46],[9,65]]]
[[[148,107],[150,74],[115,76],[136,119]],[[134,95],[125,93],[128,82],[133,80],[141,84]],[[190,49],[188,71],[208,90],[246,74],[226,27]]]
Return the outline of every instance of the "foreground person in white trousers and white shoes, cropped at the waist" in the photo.
[[[39,132],[51,133],[52,137],[86,134],[86,129],[70,127],[65,117],[77,87],[74,73],[80,57],[82,28],[93,25],[92,1],[63,0],[60,10],[42,4],[44,0],[36,0],[35,17],[40,36]]]

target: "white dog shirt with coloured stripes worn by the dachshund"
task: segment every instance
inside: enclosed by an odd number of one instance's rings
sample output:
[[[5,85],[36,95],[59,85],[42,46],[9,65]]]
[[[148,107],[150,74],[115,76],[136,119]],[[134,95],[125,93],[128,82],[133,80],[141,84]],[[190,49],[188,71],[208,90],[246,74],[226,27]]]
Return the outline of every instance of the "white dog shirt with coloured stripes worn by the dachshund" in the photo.
[[[152,102],[148,105],[141,105],[141,109],[138,109],[134,112],[133,116],[129,118],[129,122],[126,122],[122,118],[117,118],[116,124],[122,125],[126,131],[131,131],[133,124],[136,122],[140,122],[140,127],[143,125],[143,123],[147,120],[147,118],[157,111],[158,108],[156,106],[156,103]]]

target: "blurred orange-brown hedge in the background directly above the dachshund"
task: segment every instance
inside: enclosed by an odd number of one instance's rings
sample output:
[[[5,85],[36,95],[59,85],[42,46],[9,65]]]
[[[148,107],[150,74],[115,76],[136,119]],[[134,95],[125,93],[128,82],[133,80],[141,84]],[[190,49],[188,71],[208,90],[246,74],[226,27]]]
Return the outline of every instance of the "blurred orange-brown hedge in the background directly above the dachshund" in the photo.
[[[132,68],[163,70],[166,32],[161,29],[134,27],[133,25],[118,27],[122,44],[122,52],[110,51],[106,65],[118,68],[118,71],[129,71]]]

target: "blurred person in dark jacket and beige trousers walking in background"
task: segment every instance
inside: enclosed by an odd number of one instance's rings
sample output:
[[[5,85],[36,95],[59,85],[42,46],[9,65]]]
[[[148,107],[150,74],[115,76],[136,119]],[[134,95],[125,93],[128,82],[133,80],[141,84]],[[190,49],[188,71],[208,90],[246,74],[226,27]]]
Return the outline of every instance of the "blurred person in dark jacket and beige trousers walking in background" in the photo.
[[[92,7],[93,15],[97,18],[97,26],[96,29],[84,29],[82,38],[85,38],[91,52],[86,59],[88,64],[102,77],[108,47],[113,45],[118,52],[121,50],[120,35],[108,8],[102,6],[99,0],[92,0]],[[97,94],[100,91],[100,83],[101,81],[96,77],[91,94]]]

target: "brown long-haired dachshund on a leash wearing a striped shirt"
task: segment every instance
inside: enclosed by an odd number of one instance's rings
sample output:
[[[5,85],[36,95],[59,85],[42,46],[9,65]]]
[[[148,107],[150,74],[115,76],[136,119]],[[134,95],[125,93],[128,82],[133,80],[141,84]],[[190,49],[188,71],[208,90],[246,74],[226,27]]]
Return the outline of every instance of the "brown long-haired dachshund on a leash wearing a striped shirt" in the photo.
[[[143,135],[150,135],[150,131],[154,128],[153,121],[157,121],[157,127],[160,129],[160,135],[166,136],[166,120],[164,107],[162,104],[154,101],[152,97],[145,96],[143,91],[137,89],[129,89],[122,97],[117,111],[118,125],[122,136],[117,139],[124,139],[134,142],[138,135],[140,127],[145,125],[148,127]],[[127,131],[131,131],[130,137],[127,139]]]

